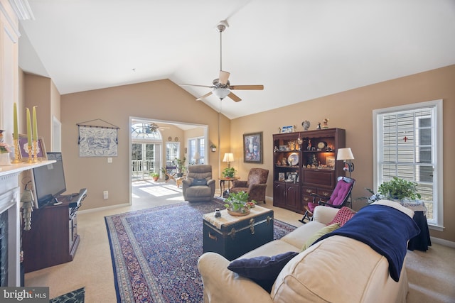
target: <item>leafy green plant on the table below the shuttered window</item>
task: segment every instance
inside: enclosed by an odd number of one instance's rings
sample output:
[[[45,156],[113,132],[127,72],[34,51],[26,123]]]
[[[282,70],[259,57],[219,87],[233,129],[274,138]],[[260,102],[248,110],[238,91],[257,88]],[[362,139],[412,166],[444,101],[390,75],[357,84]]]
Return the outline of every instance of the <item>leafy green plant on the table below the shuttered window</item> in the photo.
[[[378,193],[373,192],[372,189],[367,188],[368,192],[373,194],[368,199],[368,204],[378,201],[380,199],[389,200],[416,200],[422,196],[417,192],[417,183],[404,180],[399,177],[393,177],[392,180],[382,182],[378,188]]]

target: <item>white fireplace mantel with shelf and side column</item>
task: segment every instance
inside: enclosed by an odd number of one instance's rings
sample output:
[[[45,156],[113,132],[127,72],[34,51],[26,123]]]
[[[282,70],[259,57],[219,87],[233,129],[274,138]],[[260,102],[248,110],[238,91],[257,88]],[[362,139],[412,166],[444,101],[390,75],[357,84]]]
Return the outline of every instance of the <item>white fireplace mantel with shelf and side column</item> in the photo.
[[[21,199],[19,174],[33,167],[48,165],[55,160],[36,163],[18,163],[0,166],[0,212],[8,211],[8,285],[21,286],[20,249],[21,249]],[[32,226],[33,228],[33,226]]]

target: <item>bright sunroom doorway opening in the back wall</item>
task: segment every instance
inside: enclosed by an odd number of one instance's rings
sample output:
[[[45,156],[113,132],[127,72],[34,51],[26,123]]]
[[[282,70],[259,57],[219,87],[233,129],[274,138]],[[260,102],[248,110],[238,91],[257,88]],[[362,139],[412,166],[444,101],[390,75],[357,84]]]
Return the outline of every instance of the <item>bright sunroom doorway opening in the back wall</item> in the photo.
[[[178,175],[166,179],[163,170],[169,172],[176,158],[184,160],[185,166],[205,163],[208,126],[139,117],[130,117],[129,126],[130,204],[150,207],[181,202]],[[154,180],[151,172],[160,172],[159,179]]]

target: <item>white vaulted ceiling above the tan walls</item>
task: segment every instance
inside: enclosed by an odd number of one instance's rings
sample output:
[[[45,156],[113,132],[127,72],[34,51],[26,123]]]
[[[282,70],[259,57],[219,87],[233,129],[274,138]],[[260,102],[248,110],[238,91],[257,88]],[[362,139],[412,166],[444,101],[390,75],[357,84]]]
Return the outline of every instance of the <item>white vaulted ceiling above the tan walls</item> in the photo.
[[[28,0],[19,65],[60,94],[171,79],[230,119],[455,64],[455,0]],[[210,89],[182,87],[200,97]],[[195,101],[196,102],[196,101]]]

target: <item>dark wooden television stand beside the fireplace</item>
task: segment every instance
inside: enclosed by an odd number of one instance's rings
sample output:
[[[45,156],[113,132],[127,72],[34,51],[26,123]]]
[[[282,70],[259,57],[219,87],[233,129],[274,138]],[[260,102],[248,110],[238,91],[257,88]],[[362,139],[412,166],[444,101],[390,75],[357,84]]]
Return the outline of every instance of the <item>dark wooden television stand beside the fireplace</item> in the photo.
[[[79,194],[58,196],[56,200],[62,204],[48,204],[33,209],[31,230],[22,231],[25,272],[73,260],[80,242],[77,210],[85,197],[87,189],[84,188],[80,189]]]

